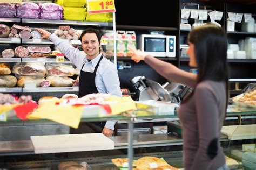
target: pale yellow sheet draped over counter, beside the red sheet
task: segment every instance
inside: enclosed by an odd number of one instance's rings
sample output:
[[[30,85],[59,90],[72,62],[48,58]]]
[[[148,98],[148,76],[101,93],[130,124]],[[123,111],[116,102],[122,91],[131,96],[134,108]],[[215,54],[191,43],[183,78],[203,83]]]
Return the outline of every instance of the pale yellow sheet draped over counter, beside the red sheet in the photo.
[[[61,100],[59,100],[60,102]],[[28,115],[29,119],[49,119],[72,128],[78,128],[82,117],[83,106],[72,107],[56,105],[56,101],[40,104],[35,112]]]

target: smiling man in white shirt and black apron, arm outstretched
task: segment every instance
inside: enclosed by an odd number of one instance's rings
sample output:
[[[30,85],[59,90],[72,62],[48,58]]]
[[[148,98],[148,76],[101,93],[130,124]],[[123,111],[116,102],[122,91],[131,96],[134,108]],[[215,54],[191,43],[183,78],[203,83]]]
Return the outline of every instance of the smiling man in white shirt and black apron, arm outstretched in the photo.
[[[56,34],[43,29],[36,29],[42,39],[50,39],[64,55],[80,70],[78,96],[91,93],[109,93],[122,96],[117,68],[100,53],[100,34],[98,30],[88,28],[80,36],[84,51],[74,48],[69,42],[59,38]],[[93,123],[91,123],[93,124]],[[102,133],[112,136],[116,121],[107,121]],[[94,128],[98,128],[94,124]],[[101,129],[96,131],[101,132]]]

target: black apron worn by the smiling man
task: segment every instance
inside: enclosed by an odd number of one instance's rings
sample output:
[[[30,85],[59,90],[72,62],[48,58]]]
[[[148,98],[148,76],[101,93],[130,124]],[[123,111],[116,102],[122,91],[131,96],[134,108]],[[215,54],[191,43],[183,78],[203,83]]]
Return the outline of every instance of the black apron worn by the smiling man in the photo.
[[[92,93],[99,93],[95,85],[96,72],[99,67],[99,62],[102,61],[103,56],[100,57],[93,73],[84,72],[83,67],[79,74],[79,92],[78,97],[83,97]],[[102,133],[106,122],[80,122],[78,129],[71,129],[71,133]]]

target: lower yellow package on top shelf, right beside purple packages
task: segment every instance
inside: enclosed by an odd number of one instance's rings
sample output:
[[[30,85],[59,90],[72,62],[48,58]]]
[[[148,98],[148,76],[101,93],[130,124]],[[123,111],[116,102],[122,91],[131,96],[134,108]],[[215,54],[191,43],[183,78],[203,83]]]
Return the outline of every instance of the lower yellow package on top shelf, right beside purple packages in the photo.
[[[63,7],[63,18],[65,20],[82,20],[86,18],[86,8]]]

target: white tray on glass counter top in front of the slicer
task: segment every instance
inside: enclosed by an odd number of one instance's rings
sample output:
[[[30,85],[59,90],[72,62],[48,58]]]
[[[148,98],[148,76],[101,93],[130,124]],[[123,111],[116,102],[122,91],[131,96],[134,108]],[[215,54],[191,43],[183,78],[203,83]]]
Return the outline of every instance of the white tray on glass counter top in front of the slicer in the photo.
[[[175,108],[179,107],[176,103],[160,102],[155,100],[136,101],[136,107],[138,110],[145,110],[153,112],[155,115],[173,113]]]

